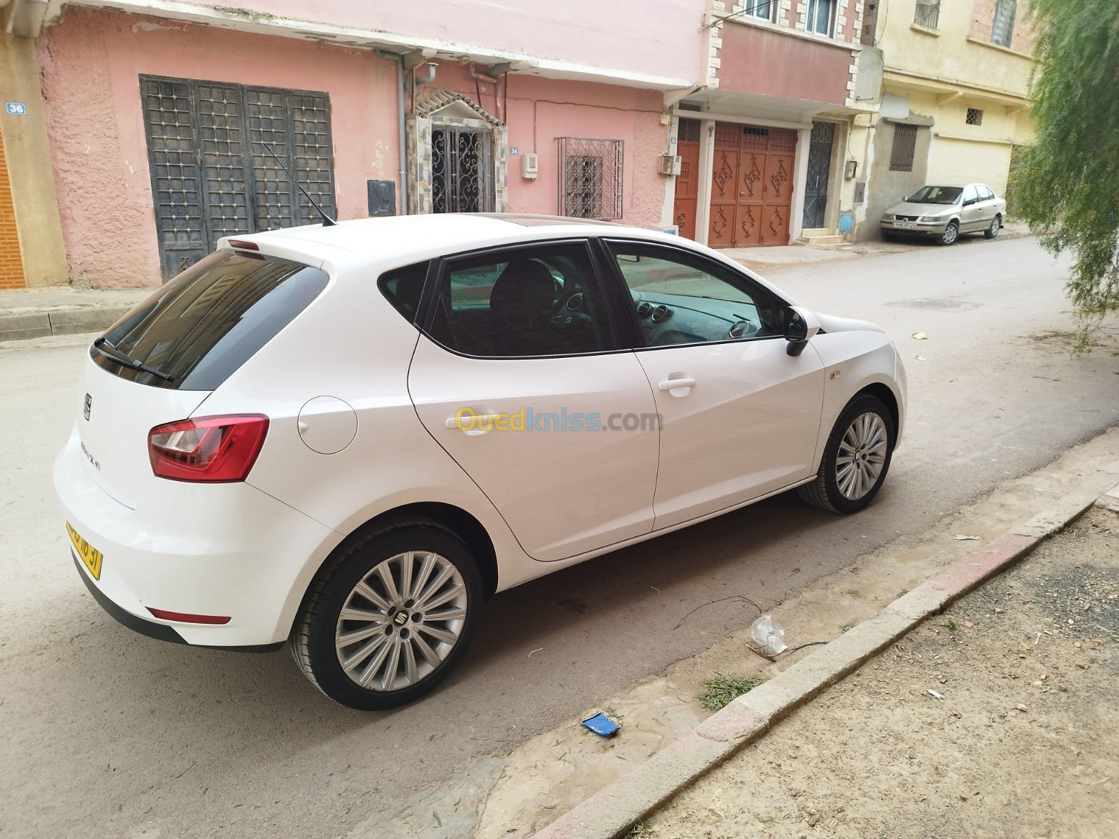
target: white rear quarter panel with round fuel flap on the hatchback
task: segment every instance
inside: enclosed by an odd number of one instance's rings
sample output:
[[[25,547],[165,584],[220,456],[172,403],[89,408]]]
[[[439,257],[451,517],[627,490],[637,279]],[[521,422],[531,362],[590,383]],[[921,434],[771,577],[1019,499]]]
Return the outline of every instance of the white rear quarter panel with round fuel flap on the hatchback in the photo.
[[[269,434],[247,483],[341,537],[387,510],[441,502],[477,518],[499,558],[521,555],[493,506],[420,423],[407,392],[420,333],[378,291],[376,272],[368,273],[328,286],[195,414],[266,414]],[[332,400],[301,417],[317,397]],[[318,442],[323,436],[333,446]],[[321,453],[304,437],[320,450],[341,449]],[[294,581],[284,610],[289,624],[328,553],[309,556]]]

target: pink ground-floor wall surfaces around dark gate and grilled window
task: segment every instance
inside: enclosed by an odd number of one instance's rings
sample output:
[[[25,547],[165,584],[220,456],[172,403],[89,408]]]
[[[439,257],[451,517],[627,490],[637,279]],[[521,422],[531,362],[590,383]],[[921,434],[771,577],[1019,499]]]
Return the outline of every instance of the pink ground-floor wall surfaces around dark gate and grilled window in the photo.
[[[395,63],[351,49],[217,27],[70,8],[38,41],[49,148],[69,274],[98,287],[160,282],[159,237],[139,76],[325,91],[330,95],[339,218],[367,215],[366,180],[397,180]],[[624,143],[623,220],[660,227],[658,158],[668,150],[661,94],[510,74],[498,84],[435,60],[436,87],[508,123],[508,142],[539,155],[536,180],[508,158],[508,209],[558,210],[558,136]],[[420,86],[422,93],[425,88]]]

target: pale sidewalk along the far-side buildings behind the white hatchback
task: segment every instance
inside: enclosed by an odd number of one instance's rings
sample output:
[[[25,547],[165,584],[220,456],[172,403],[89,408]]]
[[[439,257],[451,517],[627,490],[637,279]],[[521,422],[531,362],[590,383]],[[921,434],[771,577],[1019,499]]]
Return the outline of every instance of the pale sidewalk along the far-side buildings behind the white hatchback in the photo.
[[[1004,227],[1000,237],[1018,238],[1029,232],[1021,221]],[[960,244],[965,244],[961,239]],[[727,248],[722,253],[765,274],[792,265],[852,260],[932,247],[928,242],[859,242],[843,245],[786,245]],[[112,326],[154,289],[73,289],[48,286],[0,291],[0,341],[19,341],[51,334],[100,332]]]

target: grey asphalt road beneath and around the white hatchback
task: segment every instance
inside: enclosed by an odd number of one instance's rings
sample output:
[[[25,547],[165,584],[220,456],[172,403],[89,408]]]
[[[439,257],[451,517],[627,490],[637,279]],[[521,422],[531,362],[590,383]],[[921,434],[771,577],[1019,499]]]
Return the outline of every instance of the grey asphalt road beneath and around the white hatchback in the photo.
[[[704,649],[740,613],[673,631],[693,607],[780,600],[1119,422],[1119,355],[1070,357],[1064,275],[1033,239],[772,273],[901,349],[909,423],[878,500],[838,518],[779,497],[502,593],[439,691],[379,714],[332,705],[286,652],[178,647],[105,615],[50,486],[84,346],[0,350],[0,835],[346,836]]]

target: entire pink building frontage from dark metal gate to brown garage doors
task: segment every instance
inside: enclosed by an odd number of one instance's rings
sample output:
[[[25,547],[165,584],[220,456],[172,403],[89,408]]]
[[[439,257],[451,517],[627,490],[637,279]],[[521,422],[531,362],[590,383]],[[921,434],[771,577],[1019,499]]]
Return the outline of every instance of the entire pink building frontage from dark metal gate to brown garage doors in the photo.
[[[563,214],[714,246],[788,244],[806,206],[836,226],[809,158],[836,126],[836,177],[862,3],[507,7],[49,0],[62,281],[157,285],[220,236],[318,221],[284,168],[340,219]]]

